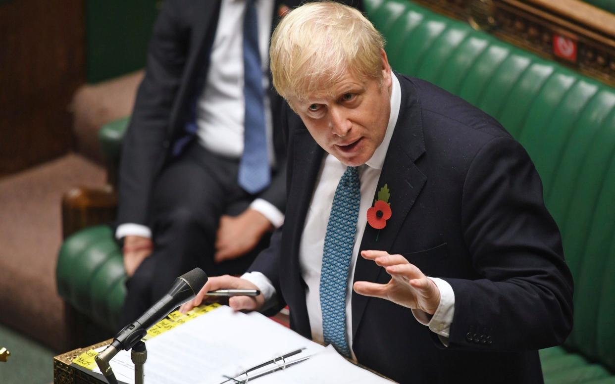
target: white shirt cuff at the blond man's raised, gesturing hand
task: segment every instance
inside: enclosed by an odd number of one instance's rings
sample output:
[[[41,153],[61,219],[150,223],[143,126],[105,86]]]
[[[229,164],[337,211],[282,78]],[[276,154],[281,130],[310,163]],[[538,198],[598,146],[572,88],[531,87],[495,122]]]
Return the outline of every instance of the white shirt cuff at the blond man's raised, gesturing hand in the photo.
[[[450,337],[451,324],[455,313],[455,294],[453,287],[447,281],[440,278],[432,278],[435,285],[440,289],[440,304],[436,308],[434,315],[429,315],[421,310],[412,310],[412,314],[416,320],[426,326],[429,326],[432,332],[438,335],[440,341],[448,347],[448,337]]]

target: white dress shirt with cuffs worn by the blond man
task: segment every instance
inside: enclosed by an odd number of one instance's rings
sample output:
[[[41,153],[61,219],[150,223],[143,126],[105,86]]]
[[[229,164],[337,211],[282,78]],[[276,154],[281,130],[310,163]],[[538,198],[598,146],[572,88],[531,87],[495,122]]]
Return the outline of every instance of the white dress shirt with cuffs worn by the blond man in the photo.
[[[352,276],[354,276],[354,268],[359,254],[361,239],[365,224],[367,224],[367,210],[373,205],[373,196],[378,188],[378,179],[384,164],[384,158],[391,142],[391,137],[399,116],[401,103],[401,88],[399,80],[396,76],[392,76],[391,90],[391,116],[386,128],[383,142],[376,148],[376,151],[364,165],[359,167],[359,179],[361,189],[361,201],[359,208],[359,217],[357,219],[357,230],[355,232],[355,243],[352,249],[352,257],[348,268],[349,278],[346,286],[346,335],[348,345],[351,348],[352,357]],[[325,233],[327,224],[333,205],[333,195],[344,171],[346,165],[343,165],[333,155],[327,155],[322,162],[319,174],[317,176],[316,187],[312,200],[309,205],[306,222],[301,236],[299,249],[299,261],[301,268],[301,276],[306,282],[306,304],[308,307],[308,316],[312,331],[312,339],[316,342],[323,343],[322,332],[322,311],[320,310],[320,269],[322,267],[322,251],[325,241]],[[265,295],[266,300],[272,300],[275,296],[275,289],[271,281],[260,272],[245,273],[242,278],[252,281]],[[415,318],[430,327],[438,335],[447,338],[449,335],[450,324],[453,319],[454,312],[454,294],[450,284],[446,281],[432,278],[440,289],[440,305],[438,306],[434,316],[429,318],[426,313],[414,311]],[[375,299],[379,300],[379,299]],[[446,345],[447,340],[442,339]]]

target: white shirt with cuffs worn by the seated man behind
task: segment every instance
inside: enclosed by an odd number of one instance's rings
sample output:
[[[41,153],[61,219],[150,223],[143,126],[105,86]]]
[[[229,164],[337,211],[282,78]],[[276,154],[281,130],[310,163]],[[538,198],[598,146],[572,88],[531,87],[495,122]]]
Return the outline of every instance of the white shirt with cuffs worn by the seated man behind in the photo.
[[[269,37],[274,0],[255,3],[258,14],[258,48],[263,67],[265,123],[269,162],[275,163],[271,100],[269,100]],[[244,14],[245,0],[223,0],[210,56],[209,72],[197,101],[197,138],[199,144],[215,154],[239,159],[244,152]],[[239,112],[240,111],[240,112]],[[266,200],[256,199],[250,208],[259,211],[278,228],[284,214]],[[145,225],[125,223],[117,227],[116,237],[137,235],[151,238]]]

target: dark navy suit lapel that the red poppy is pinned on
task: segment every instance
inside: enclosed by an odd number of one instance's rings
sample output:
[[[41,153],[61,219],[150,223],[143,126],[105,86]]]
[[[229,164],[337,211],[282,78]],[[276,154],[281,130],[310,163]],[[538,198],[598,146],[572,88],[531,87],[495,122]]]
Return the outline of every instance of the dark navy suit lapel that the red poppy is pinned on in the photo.
[[[423,139],[423,125],[421,109],[412,85],[407,79],[398,76],[402,86],[402,101],[400,103],[399,117],[384,160],[383,170],[378,179],[374,200],[378,197],[378,190],[387,184],[391,196],[391,219],[381,230],[365,226],[359,255],[354,272],[354,281],[376,281],[383,268],[373,261],[367,261],[360,256],[360,251],[376,249],[390,251],[395,239],[405,221],[406,216],[414,205],[416,198],[423,189],[426,176],[415,165],[415,160],[425,152]],[[366,214],[360,212],[359,214]],[[378,241],[376,241],[378,238]],[[357,329],[370,300],[352,291],[352,339],[355,339]]]

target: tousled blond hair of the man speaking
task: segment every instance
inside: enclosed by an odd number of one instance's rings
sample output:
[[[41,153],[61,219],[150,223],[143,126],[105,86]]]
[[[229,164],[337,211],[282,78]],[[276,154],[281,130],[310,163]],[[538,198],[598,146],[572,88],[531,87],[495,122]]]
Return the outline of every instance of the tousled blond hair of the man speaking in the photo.
[[[382,80],[383,36],[359,10],[310,2],[288,12],[271,37],[273,84],[286,100],[327,92],[348,72]]]

